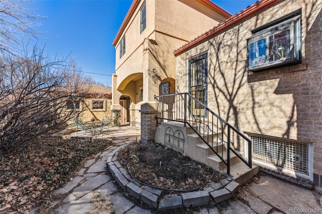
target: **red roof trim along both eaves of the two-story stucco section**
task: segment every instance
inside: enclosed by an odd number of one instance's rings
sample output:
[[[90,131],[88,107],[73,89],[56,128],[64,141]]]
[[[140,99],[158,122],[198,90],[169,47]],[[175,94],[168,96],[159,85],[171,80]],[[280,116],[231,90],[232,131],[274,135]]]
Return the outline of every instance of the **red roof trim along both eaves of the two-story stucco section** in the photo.
[[[114,41],[112,43],[113,46],[116,46],[117,41],[120,39],[123,31],[125,30],[125,26],[127,25],[127,23],[129,22],[131,16],[133,15],[135,9],[137,8],[137,6],[139,5],[141,0],[133,0],[132,5],[130,7],[130,9],[128,10],[122,24],[121,27],[119,28]],[[223,16],[231,17],[232,15],[230,13],[228,13],[227,11],[225,11],[224,9],[220,8],[219,6],[217,6],[216,4],[214,4],[213,2],[211,2],[210,0],[198,0],[202,3],[204,3],[205,5],[207,5],[210,8],[215,9],[218,13],[222,14]]]

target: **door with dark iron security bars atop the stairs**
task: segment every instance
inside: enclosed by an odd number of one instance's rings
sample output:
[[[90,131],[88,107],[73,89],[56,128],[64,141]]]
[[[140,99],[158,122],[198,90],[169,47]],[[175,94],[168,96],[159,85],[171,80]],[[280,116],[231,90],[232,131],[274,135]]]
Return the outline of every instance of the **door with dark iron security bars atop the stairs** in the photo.
[[[207,106],[208,54],[199,55],[189,60],[189,93]],[[204,116],[202,106],[190,100],[190,114]]]

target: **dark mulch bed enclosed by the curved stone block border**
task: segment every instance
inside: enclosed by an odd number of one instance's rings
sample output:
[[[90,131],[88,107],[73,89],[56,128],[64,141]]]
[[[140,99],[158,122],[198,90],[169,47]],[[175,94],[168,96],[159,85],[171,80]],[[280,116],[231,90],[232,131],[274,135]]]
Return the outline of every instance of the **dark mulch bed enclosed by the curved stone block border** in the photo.
[[[224,174],[157,143],[132,143],[119,152],[117,160],[124,166],[127,163],[137,180],[171,189],[168,193],[192,190],[225,178]]]

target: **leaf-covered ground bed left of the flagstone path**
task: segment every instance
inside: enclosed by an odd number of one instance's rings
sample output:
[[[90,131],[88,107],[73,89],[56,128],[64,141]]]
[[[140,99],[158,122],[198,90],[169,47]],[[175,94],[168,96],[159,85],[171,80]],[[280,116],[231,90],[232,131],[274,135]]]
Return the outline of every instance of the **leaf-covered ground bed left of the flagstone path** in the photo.
[[[70,181],[87,158],[109,145],[108,140],[39,137],[9,155],[0,151],[0,213],[46,208],[51,191]]]

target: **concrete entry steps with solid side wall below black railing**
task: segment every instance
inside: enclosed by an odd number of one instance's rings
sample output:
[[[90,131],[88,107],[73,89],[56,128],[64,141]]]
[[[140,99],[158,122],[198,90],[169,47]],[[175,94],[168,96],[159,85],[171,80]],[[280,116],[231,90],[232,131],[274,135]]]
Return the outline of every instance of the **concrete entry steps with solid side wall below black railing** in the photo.
[[[162,123],[161,126],[156,128],[155,133],[155,142],[160,143],[162,145],[168,146],[174,150],[178,149],[175,145],[171,145],[167,143],[165,140],[166,130],[172,129],[174,133],[180,130],[184,136],[183,143],[183,151],[184,155],[187,155],[193,160],[196,160],[200,163],[203,163],[212,169],[223,172],[227,174],[227,166],[226,164],[215,154],[209,146],[202,141],[202,139],[191,129],[190,127],[184,127],[183,123],[180,122],[167,122]],[[208,137],[208,135],[205,135]],[[217,139],[217,136],[214,136],[214,139]],[[219,139],[218,144],[213,142],[213,149],[217,151],[217,153],[222,154],[223,159],[227,162],[227,144],[222,143]],[[244,152],[239,153],[244,157]],[[227,174],[237,183],[244,183],[248,181],[251,177],[256,175],[259,171],[259,167],[255,164],[252,165],[252,168],[248,167],[243,161],[241,161],[233,152],[230,151],[230,173]]]

